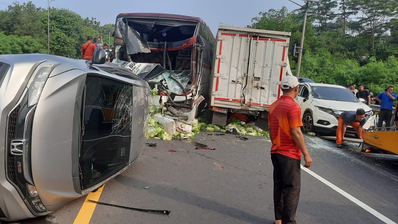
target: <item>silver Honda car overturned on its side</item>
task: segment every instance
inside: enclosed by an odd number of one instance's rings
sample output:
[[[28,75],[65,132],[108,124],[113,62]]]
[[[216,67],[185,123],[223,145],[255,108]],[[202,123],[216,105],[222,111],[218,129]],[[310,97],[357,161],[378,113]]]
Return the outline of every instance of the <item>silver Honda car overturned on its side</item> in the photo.
[[[139,157],[149,86],[104,54],[0,55],[0,220],[55,211]]]

